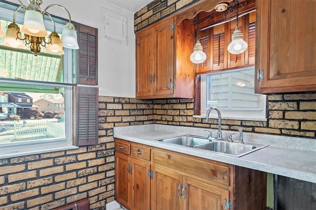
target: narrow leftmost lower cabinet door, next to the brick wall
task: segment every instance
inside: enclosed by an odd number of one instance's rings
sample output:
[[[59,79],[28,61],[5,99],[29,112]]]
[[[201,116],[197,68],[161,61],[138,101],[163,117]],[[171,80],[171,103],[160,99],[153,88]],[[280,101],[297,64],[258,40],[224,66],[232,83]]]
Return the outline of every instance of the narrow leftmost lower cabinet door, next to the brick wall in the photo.
[[[130,198],[129,186],[129,168],[128,157],[121,153],[116,153],[115,162],[115,190],[116,190],[116,200],[122,205],[128,207],[128,202]]]

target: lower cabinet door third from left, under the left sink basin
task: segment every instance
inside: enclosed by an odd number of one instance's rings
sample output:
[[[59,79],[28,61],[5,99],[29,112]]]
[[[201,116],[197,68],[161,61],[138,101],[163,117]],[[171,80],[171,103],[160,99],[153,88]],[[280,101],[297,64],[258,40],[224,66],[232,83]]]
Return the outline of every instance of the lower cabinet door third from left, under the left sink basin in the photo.
[[[153,166],[153,174],[152,210],[181,210],[182,176],[157,166]]]

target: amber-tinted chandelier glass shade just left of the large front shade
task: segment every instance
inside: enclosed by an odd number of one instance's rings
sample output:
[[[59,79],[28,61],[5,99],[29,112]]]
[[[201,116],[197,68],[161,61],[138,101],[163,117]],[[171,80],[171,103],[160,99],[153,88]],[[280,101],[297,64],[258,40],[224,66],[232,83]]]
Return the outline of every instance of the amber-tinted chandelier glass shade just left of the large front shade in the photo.
[[[15,23],[10,23],[8,29],[6,30],[5,38],[2,44],[7,47],[13,47],[18,49],[25,48],[25,44],[22,40],[22,34],[20,33],[18,25],[16,25]]]

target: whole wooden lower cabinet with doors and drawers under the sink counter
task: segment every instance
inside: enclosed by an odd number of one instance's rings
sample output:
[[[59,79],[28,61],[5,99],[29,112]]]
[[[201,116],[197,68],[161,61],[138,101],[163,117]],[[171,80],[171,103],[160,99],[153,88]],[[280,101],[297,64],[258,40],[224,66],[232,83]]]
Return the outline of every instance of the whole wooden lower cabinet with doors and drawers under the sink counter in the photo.
[[[127,209],[266,209],[264,172],[120,139],[115,148],[116,200]]]

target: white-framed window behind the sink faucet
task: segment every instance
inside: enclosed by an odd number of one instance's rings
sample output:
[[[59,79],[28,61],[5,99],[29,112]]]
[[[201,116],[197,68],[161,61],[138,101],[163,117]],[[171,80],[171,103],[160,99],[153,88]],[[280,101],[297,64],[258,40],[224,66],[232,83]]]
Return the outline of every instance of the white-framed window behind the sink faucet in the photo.
[[[254,93],[254,67],[201,76],[201,116],[211,106],[223,119],[266,120],[266,96]],[[217,113],[210,113],[217,118]]]

